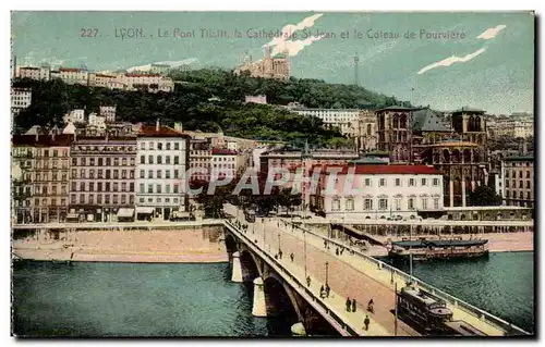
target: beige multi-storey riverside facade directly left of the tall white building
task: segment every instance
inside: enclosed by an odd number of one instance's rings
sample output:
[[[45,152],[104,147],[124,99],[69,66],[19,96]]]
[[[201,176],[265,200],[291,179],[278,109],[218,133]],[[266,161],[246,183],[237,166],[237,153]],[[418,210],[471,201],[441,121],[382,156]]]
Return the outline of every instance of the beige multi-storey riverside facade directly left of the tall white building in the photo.
[[[76,138],[71,149],[70,218],[118,221],[135,200],[135,137]]]

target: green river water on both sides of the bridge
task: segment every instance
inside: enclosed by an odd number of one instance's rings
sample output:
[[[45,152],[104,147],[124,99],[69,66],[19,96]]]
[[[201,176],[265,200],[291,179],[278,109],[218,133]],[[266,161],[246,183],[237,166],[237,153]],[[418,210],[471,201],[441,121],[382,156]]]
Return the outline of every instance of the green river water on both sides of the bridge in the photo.
[[[533,253],[421,263],[414,274],[533,331]],[[252,317],[253,286],[228,263],[20,262],[13,330],[26,336],[286,336],[282,318]]]

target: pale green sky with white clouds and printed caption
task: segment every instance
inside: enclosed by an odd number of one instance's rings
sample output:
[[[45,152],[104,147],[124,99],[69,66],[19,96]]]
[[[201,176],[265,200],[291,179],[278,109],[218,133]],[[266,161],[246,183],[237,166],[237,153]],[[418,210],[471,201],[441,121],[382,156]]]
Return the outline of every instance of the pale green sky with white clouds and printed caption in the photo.
[[[416,106],[534,108],[530,12],[12,12],[11,38],[20,66],[94,71],[234,69],[268,46],[295,77],[353,84],[358,57],[359,85]]]

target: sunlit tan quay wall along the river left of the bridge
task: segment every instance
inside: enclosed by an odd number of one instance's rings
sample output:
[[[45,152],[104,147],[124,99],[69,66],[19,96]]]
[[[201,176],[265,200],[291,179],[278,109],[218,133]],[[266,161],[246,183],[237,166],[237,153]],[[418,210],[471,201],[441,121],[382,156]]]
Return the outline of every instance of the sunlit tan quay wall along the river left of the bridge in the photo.
[[[227,262],[222,226],[171,230],[16,231],[13,253],[31,260]]]

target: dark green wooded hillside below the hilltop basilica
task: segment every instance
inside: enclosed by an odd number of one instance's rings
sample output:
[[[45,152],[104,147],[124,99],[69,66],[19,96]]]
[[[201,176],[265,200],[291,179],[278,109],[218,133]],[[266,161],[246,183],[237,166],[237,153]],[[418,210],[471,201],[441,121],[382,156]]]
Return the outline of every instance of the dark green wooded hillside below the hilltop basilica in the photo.
[[[350,140],[338,129],[324,128],[322,120],[301,116],[278,106],[300,102],[310,108],[380,108],[405,104],[365,88],[327,84],[324,80],[276,80],[235,76],[230,71],[203,69],[173,71],[173,92],[110,90],[66,85],[60,79],[38,82],[15,79],[14,87],[33,89],[33,102],[14,121],[16,132],[33,125],[62,126],[62,116],[73,109],[97,112],[100,106],[117,106],[117,120],[132,123],[181,122],[184,129],[226,135],[341,147]],[[246,95],[266,95],[271,104],[245,104]]]

